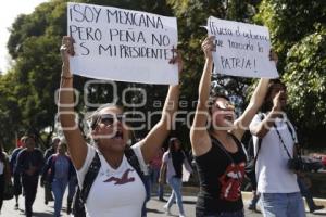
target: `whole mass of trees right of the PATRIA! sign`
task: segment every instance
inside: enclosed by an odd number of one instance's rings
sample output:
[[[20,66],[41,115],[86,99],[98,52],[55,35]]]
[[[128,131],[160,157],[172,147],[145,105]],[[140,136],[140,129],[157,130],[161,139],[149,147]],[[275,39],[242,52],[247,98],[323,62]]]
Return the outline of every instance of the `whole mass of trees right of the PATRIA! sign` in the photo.
[[[325,141],[325,17],[324,1],[264,0],[255,16],[269,28],[279,54],[279,71],[288,87],[289,113],[302,141]]]

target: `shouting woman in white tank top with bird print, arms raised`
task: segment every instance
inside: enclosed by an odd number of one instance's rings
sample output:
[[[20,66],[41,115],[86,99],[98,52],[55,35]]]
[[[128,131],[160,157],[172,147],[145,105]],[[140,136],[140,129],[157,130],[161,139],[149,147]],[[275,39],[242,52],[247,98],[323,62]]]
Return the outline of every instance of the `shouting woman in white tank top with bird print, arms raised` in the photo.
[[[99,107],[91,117],[95,145],[90,145],[75,122],[73,76],[70,72],[70,55],[74,55],[71,37],[63,37],[61,55],[60,122],[82,189],[80,196],[79,193],[76,195],[79,200],[75,200],[78,203],[75,203],[74,214],[82,216],[85,204],[89,217],[139,217],[146,197],[142,168],[155,156],[168,135],[179,88],[177,85],[170,87],[160,122],[131,148],[127,145],[129,130],[122,107]],[[171,63],[177,63],[181,71],[179,56]]]

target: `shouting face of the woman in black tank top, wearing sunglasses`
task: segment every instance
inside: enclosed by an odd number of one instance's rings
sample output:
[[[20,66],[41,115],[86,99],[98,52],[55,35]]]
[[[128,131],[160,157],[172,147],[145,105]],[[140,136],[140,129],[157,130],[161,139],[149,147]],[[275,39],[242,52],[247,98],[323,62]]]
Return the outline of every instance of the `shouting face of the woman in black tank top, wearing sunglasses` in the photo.
[[[230,129],[235,122],[235,106],[225,98],[216,98],[211,107],[213,129]]]

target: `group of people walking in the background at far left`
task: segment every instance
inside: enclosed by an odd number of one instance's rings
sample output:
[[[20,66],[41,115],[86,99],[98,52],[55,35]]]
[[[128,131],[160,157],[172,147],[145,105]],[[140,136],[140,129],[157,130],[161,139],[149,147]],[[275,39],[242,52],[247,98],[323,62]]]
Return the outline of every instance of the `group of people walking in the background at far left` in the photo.
[[[55,217],[61,216],[63,194],[66,187],[70,187],[67,196],[67,213],[70,214],[77,179],[66,153],[66,144],[63,139],[53,137],[51,148],[43,154],[37,148],[35,140],[32,135],[23,136],[20,139],[20,146],[13,150],[10,156],[1,151],[0,205],[2,206],[5,189],[12,184],[12,195],[15,200],[14,209],[18,210],[20,195],[23,195],[25,197],[25,215],[33,216],[33,204],[40,180],[40,186],[45,188],[45,204],[54,201]]]

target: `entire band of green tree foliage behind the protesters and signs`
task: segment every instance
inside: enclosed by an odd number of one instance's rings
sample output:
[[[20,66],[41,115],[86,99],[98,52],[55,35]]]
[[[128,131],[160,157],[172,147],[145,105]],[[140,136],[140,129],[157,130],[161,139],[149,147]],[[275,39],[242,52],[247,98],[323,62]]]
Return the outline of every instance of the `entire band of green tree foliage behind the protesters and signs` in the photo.
[[[54,93],[59,88],[61,60],[59,47],[66,35],[66,2],[52,0],[42,3],[29,15],[21,15],[11,28],[9,52],[14,60],[12,68],[0,76],[0,137],[4,144],[13,143],[18,136],[30,130],[45,145],[54,132],[57,104]],[[325,13],[323,1],[313,0],[79,0],[78,2],[111,5],[176,16],[178,21],[178,49],[185,61],[181,75],[181,107],[195,110],[197,89],[203,67],[201,40],[210,15],[233,21],[259,23],[269,28],[274,50],[280,63],[279,71],[288,85],[290,114],[306,142],[309,133],[325,130],[326,76],[325,76]],[[259,11],[259,12],[258,12]],[[254,16],[254,21],[252,17]],[[82,93],[77,110],[82,115],[96,107],[87,107],[83,101],[87,78],[76,76],[74,87]],[[251,79],[214,77],[213,85],[224,86],[231,94],[244,100]],[[166,86],[117,82],[118,98],[126,88],[145,88],[147,103],[143,107],[126,107],[131,114],[155,112],[162,108]],[[110,101],[112,90],[105,86],[88,88],[87,99],[92,103]],[[139,102],[142,95],[135,91],[127,102]],[[185,116],[185,115],[184,115]],[[178,116],[183,118],[183,115]],[[152,125],[158,117],[151,118]],[[300,125],[298,125],[300,124]],[[45,133],[45,129],[49,130]],[[189,129],[177,123],[177,136],[188,141]],[[138,137],[146,131],[139,131]]]

